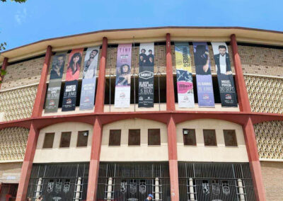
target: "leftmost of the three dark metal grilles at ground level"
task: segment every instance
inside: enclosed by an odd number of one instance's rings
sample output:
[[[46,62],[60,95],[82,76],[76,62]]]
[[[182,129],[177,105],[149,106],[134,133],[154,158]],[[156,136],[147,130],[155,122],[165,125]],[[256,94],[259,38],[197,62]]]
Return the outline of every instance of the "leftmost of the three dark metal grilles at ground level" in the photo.
[[[35,199],[39,194],[44,200],[74,200],[79,193],[79,200],[86,200],[88,167],[89,163],[33,164],[27,197]]]

